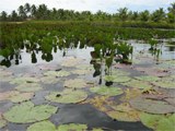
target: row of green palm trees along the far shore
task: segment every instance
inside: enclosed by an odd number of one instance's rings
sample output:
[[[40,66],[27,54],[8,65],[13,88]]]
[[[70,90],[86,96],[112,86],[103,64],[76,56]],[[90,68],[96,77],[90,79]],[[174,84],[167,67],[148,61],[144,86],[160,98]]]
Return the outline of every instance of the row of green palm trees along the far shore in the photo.
[[[153,12],[144,10],[141,12],[130,11],[127,8],[116,9],[116,13],[106,13],[97,11],[92,13],[90,11],[73,11],[52,8],[49,10],[46,4],[25,3],[20,5],[18,10],[13,10],[11,14],[2,11],[0,14],[1,22],[22,22],[30,20],[51,20],[51,21],[137,21],[137,22],[164,22],[175,23],[175,2],[170,4],[165,11],[160,8]]]

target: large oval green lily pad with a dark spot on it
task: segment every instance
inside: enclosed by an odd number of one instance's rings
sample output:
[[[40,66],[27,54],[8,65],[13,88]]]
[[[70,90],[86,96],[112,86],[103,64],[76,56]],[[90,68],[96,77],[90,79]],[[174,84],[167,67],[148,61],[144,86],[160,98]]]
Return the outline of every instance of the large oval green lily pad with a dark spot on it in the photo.
[[[86,99],[88,94],[83,91],[65,90],[63,92],[52,92],[45,98],[55,103],[75,104]]]

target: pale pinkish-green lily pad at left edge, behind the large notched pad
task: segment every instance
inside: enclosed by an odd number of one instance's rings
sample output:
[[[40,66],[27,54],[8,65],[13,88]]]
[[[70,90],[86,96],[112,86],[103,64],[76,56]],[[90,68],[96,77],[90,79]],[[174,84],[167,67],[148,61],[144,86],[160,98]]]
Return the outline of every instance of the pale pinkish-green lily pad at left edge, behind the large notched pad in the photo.
[[[11,100],[13,103],[28,100],[34,96],[34,93],[20,93],[16,91],[10,91],[0,93],[0,100]]]

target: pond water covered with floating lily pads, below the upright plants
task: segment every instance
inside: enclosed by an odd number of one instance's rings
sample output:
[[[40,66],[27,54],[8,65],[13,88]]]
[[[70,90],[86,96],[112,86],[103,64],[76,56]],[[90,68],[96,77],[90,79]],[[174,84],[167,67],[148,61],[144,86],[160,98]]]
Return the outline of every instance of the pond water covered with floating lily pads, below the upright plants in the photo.
[[[56,127],[86,124],[88,130],[160,129],[160,123],[158,127],[150,126],[142,116],[148,116],[148,120],[153,115],[168,120],[174,115],[175,47],[163,44],[158,62],[149,53],[148,44],[128,43],[133,46],[132,64],[113,61],[110,75],[106,73],[105,60],[92,62],[93,47],[68,48],[65,52],[52,49],[49,55],[44,55],[43,50],[28,52],[24,48],[10,61],[3,61],[3,57],[0,57],[1,63],[9,67],[0,67],[0,121],[4,123],[0,130],[33,131],[30,126],[45,120]],[[166,95],[168,100],[160,94]],[[140,104],[139,98],[144,105]],[[27,112],[23,109],[26,103],[49,105],[56,111],[42,116],[42,119],[27,118],[28,115],[42,114],[42,108]]]

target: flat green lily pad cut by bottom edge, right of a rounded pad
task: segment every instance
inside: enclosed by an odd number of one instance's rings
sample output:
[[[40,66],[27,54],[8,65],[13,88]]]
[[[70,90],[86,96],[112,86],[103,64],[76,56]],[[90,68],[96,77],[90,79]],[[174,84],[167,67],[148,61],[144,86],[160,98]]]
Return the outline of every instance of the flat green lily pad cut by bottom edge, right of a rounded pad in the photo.
[[[86,131],[86,124],[79,124],[79,123],[69,123],[69,124],[61,124],[58,127],[58,131]]]

